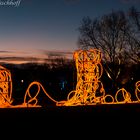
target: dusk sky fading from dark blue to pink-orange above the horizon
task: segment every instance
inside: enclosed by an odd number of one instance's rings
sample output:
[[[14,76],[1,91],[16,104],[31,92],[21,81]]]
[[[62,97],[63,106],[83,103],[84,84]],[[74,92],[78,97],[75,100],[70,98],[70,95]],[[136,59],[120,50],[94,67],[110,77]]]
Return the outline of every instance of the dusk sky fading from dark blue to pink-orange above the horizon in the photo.
[[[4,5],[7,1],[0,0],[1,61],[45,58],[48,52],[72,57],[83,17],[96,18],[131,6],[140,10],[140,0],[21,0],[18,6]]]

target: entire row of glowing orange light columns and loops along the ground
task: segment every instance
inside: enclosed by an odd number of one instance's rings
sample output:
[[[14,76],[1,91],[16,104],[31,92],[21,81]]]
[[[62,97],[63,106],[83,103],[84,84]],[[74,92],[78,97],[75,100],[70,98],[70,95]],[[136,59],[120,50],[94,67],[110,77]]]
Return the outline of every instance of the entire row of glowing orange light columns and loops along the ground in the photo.
[[[0,108],[6,107],[41,107],[38,104],[38,95],[42,89],[46,96],[56,104],[56,106],[78,106],[78,105],[97,105],[97,104],[126,104],[140,103],[140,81],[135,84],[136,101],[132,101],[131,94],[124,88],[119,89],[115,97],[106,94],[100,78],[103,74],[101,64],[102,54],[100,50],[78,50],[73,54],[77,69],[76,89],[71,91],[67,100],[56,101],[53,99],[38,81],[32,82],[24,96],[23,104],[12,105],[12,80],[11,73],[4,67],[0,67]],[[37,91],[31,91],[33,86]],[[122,97],[119,99],[119,97]],[[107,99],[110,99],[107,101]]]

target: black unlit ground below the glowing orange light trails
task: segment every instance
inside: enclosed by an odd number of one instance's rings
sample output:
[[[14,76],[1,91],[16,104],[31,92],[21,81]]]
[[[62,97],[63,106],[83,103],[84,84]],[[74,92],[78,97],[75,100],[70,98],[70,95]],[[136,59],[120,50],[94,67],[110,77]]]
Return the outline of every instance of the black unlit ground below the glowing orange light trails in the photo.
[[[128,137],[133,130],[140,130],[140,104],[4,108],[0,109],[0,120],[0,127],[5,127],[3,130],[14,130],[15,135],[21,132],[22,135],[32,135],[33,131],[33,135],[39,136],[47,137],[51,134],[51,137],[63,137],[65,134],[71,137],[75,133],[81,138],[82,135],[94,136],[95,133],[103,136],[105,132],[107,138],[112,138],[113,133],[114,139],[120,133]],[[135,133],[137,136],[138,132]]]

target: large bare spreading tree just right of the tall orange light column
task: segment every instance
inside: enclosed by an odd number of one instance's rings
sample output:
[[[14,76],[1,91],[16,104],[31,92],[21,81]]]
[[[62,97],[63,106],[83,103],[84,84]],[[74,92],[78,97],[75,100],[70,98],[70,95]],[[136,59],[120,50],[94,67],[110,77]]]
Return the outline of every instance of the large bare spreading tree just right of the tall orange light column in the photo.
[[[124,53],[129,24],[124,12],[112,12],[100,19],[93,20],[85,17],[79,31],[79,47],[100,49],[105,63],[104,69],[108,77],[115,83],[121,72],[121,63],[125,63],[127,58]]]

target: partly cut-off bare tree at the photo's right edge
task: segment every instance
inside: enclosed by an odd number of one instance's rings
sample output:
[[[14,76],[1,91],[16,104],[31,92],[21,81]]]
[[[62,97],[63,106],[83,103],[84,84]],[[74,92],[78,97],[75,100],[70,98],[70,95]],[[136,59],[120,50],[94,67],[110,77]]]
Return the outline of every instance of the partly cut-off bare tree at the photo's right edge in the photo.
[[[135,7],[129,9],[130,32],[127,34],[129,49],[126,51],[128,57],[136,64],[140,64],[140,12]]]

